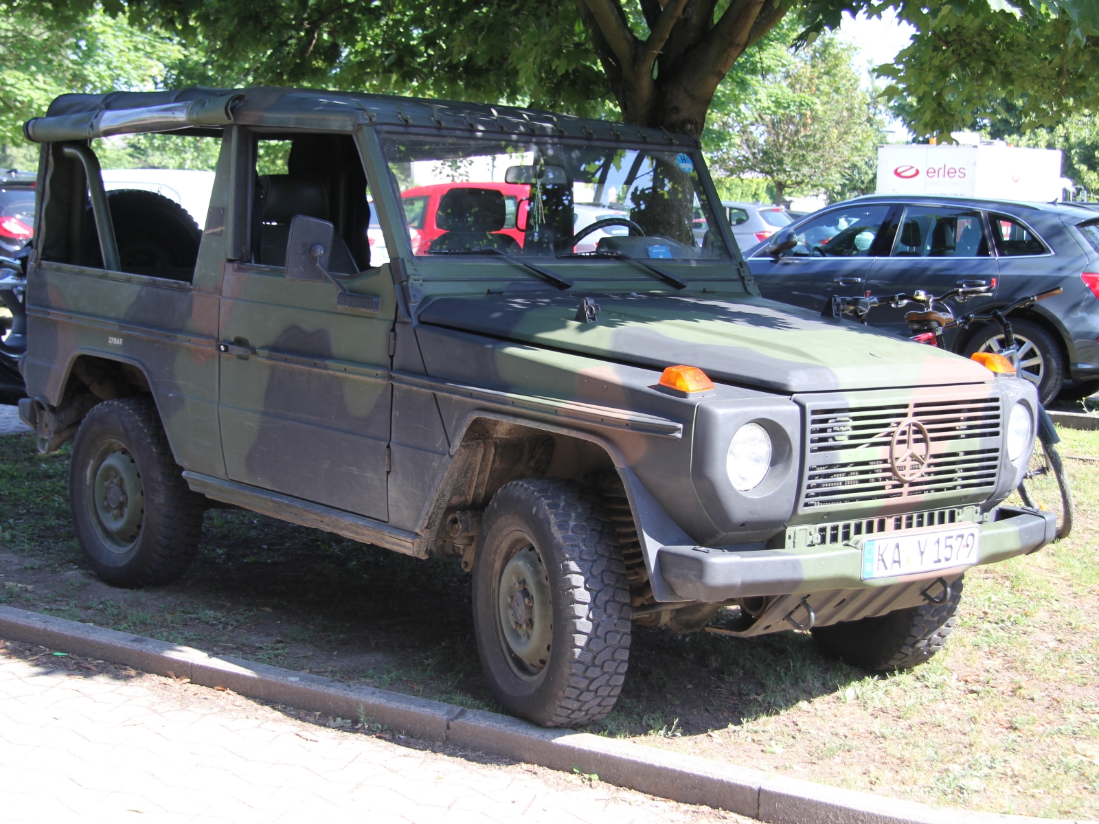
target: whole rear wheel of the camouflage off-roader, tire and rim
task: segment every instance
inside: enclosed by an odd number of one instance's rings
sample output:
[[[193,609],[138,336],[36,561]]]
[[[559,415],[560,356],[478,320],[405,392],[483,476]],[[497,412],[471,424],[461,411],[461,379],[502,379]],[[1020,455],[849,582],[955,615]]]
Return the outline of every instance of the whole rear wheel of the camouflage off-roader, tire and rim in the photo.
[[[77,538],[96,574],[115,587],[170,583],[202,533],[202,501],[184,480],[152,400],[96,404],[69,465]]]

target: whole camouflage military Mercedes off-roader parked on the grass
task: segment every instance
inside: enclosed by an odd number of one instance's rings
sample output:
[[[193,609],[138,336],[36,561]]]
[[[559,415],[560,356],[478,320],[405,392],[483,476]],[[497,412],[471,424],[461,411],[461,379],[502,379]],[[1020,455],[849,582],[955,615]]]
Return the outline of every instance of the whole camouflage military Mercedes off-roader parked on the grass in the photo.
[[[570,726],[633,624],[724,608],[910,667],[966,568],[1053,536],[1001,505],[1033,387],[762,299],[690,137],[276,88],[67,94],[25,132],[20,411],[74,439],[111,583],[177,578],[214,502],[459,558],[495,695]],[[142,133],[215,142],[201,227],[104,191],[99,147]]]

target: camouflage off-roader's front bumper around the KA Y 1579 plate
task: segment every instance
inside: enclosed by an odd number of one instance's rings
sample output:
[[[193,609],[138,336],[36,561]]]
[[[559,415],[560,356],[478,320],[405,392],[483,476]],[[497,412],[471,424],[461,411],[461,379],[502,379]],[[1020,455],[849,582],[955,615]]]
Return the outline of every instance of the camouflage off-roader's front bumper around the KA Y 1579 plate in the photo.
[[[1000,506],[980,525],[977,564],[1026,555],[1053,541],[1053,513]],[[664,579],[690,601],[709,603],[751,595],[858,590],[940,578],[947,570],[863,580],[863,552],[854,543],[807,549],[736,549],[665,546],[657,555]],[[953,570],[957,575],[959,570]]]

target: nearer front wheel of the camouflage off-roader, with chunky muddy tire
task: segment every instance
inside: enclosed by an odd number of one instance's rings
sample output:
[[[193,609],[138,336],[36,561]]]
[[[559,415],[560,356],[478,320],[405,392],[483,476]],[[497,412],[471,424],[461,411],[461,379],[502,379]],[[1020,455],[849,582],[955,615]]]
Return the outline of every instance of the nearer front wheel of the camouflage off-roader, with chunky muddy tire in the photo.
[[[607,715],[630,657],[630,589],[598,495],[564,480],[506,485],[473,574],[477,652],[503,709],[544,726]]]

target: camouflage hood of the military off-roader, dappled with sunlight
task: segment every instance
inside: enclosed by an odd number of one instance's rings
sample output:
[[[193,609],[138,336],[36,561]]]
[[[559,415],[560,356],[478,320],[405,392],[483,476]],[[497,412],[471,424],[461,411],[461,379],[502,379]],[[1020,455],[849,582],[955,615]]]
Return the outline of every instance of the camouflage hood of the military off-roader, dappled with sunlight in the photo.
[[[575,320],[581,299],[595,323]],[[421,323],[652,366],[697,366],[711,378],[780,392],[992,379],[985,367],[932,346],[764,298],[698,294],[487,294],[431,299]]]

